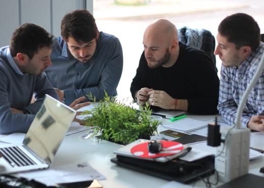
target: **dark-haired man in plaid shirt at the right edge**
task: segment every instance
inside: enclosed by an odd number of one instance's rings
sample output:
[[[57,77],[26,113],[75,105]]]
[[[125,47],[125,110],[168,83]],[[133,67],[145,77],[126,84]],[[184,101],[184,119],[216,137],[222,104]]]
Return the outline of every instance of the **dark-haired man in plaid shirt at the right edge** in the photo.
[[[217,42],[214,54],[222,61],[217,109],[233,126],[239,102],[260,62],[264,43],[260,42],[257,22],[243,13],[222,20]],[[264,132],[264,73],[248,97],[241,121],[243,127]]]

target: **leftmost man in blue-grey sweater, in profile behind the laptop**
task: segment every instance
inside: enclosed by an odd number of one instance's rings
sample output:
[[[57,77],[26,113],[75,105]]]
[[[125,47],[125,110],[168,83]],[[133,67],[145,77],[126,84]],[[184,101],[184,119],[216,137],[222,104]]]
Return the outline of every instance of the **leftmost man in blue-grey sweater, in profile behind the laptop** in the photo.
[[[0,48],[0,134],[27,132],[45,95],[57,99],[43,72],[51,65],[52,39],[42,27],[25,23],[13,33],[10,46]],[[81,100],[71,107],[87,105],[76,105]]]

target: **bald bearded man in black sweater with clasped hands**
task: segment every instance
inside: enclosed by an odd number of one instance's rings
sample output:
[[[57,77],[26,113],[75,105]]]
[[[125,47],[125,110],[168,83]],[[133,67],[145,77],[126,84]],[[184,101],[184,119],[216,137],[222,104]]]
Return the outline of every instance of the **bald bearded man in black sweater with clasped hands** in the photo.
[[[143,37],[144,52],[130,91],[139,105],[217,114],[219,78],[211,58],[179,42],[176,26],[159,19]]]

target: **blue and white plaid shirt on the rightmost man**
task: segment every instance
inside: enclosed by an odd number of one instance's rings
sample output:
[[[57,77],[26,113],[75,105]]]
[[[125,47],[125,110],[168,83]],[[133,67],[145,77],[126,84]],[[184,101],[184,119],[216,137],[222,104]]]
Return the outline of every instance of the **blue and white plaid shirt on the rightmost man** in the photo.
[[[239,102],[259,65],[264,51],[264,43],[253,51],[239,67],[221,67],[218,107],[222,118],[233,126]],[[264,72],[248,96],[242,114],[241,125],[247,123],[253,115],[264,114]]]

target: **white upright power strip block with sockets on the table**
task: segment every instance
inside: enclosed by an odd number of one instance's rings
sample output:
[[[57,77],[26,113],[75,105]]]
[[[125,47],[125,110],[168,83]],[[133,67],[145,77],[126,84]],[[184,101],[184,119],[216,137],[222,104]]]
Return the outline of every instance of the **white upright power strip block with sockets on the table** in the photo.
[[[215,158],[215,170],[220,181],[228,182],[248,173],[250,130],[230,127],[220,132],[225,144],[216,149],[216,156],[222,153]]]

